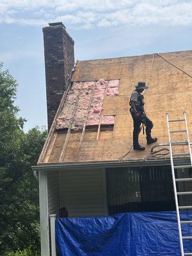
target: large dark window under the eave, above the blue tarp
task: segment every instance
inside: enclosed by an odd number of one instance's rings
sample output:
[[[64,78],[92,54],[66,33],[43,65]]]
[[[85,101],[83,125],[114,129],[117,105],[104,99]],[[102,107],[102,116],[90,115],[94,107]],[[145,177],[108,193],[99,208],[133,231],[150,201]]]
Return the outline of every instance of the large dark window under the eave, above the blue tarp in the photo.
[[[109,214],[175,209],[170,166],[108,168]]]

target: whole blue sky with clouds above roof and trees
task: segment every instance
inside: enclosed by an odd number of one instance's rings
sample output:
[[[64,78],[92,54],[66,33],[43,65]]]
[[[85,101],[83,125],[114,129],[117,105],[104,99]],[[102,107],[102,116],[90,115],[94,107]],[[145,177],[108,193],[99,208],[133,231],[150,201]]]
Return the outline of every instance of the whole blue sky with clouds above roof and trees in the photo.
[[[0,0],[0,61],[28,131],[47,124],[42,28],[62,21],[76,60],[192,49],[192,1]]]

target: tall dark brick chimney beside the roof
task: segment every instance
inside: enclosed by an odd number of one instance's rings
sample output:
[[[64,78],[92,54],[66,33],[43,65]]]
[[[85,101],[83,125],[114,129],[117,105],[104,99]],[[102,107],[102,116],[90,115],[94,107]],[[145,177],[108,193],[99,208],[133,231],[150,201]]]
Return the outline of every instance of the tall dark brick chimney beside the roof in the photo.
[[[74,40],[62,22],[49,23],[43,33],[49,130],[74,68]]]

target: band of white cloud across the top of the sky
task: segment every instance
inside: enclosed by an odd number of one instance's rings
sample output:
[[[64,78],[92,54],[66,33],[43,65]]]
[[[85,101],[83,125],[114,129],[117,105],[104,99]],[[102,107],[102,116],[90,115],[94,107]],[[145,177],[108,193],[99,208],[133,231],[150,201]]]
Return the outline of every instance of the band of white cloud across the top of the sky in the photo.
[[[192,1],[182,0],[1,0],[0,23],[44,26],[63,21],[77,28],[179,26],[192,24],[191,10]]]

